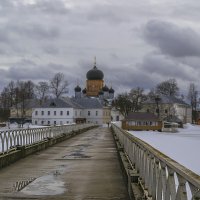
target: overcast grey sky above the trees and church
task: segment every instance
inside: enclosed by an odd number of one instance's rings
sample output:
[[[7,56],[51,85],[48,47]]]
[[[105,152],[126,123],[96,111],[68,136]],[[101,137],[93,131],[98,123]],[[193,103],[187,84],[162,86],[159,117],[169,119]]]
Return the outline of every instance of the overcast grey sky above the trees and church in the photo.
[[[199,10],[198,0],[0,0],[0,90],[57,72],[83,88],[96,56],[117,92],[175,78],[186,93],[200,85]]]

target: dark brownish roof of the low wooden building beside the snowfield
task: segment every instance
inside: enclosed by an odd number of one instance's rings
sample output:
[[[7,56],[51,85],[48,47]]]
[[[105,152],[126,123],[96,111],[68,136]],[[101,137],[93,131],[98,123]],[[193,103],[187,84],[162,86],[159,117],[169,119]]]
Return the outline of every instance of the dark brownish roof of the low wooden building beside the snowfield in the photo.
[[[125,117],[125,120],[159,121],[159,119],[158,119],[158,117],[156,115],[154,115],[153,113],[148,113],[148,112],[132,112],[132,113],[129,113]]]

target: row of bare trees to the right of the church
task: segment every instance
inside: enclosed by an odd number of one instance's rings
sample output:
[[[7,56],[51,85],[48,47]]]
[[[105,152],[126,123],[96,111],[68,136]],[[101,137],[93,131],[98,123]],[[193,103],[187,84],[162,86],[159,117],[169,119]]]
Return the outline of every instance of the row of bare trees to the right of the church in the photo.
[[[133,88],[129,93],[119,94],[113,104],[123,116],[127,116],[129,112],[141,110],[144,102],[148,98],[155,101],[155,104],[158,103],[160,95],[187,100],[192,107],[192,119],[193,121],[197,120],[197,107],[200,103],[197,87],[194,83],[191,83],[189,85],[188,95],[185,98],[180,94],[180,89],[175,79],[169,79],[157,84],[148,94],[145,94],[142,88]]]

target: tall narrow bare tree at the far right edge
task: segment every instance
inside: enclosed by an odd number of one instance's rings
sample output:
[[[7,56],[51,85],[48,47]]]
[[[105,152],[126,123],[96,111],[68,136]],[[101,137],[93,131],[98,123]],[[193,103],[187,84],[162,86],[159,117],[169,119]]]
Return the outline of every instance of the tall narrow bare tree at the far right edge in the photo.
[[[197,120],[197,106],[198,106],[198,91],[194,83],[190,83],[187,97],[192,107],[192,122],[194,122]]]

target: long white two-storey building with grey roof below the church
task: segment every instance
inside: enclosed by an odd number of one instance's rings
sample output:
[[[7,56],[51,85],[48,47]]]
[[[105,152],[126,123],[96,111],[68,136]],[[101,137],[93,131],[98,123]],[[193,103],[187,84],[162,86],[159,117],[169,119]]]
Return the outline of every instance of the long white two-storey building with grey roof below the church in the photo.
[[[62,98],[46,101],[32,112],[32,123],[37,125],[62,125],[71,123],[110,122],[110,108],[98,98]]]

